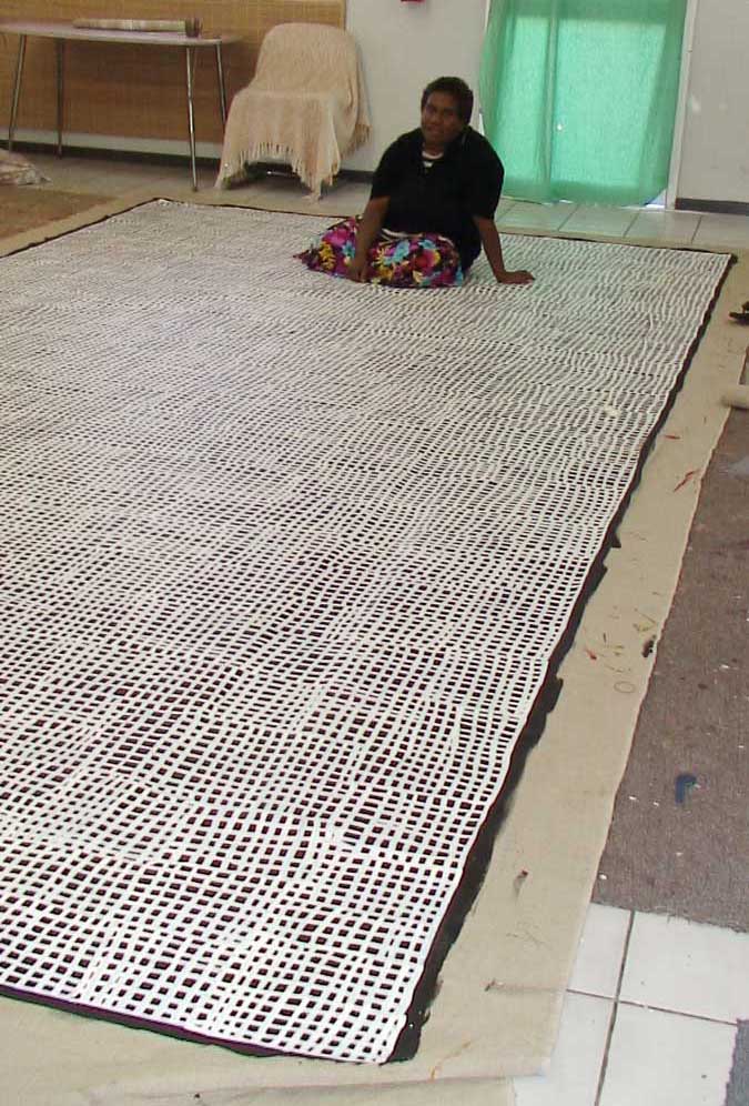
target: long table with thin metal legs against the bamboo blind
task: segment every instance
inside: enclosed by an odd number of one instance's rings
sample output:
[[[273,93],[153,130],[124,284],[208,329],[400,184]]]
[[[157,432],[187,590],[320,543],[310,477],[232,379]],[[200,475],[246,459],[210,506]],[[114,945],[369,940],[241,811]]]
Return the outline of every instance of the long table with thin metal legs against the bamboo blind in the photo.
[[[198,51],[211,49],[214,52],[216,63],[216,80],[219,86],[219,108],[221,111],[221,122],[226,123],[226,89],[224,86],[224,69],[221,58],[221,48],[231,42],[237,42],[239,34],[219,34],[214,38],[191,38],[188,34],[172,33],[171,31],[103,31],[82,27],[73,27],[72,23],[54,22],[45,19],[14,20],[1,19],[0,32],[19,36],[18,60],[16,63],[16,80],[13,82],[13,97],[10,107],[10,124],[8,127],[8,149],[13,149],[13,135],[16,133],[16,120],[18,118],[18,103],[21,95],[21,77],[23,73],[23,58],[26,56],[26,40],[29,36],[54,39],[57,47],[57,77],[58,77],[58,157],[62,157],[62,104],[63,104],[63,82],[64,82],[64,46],[65,42],[126,42],[130,46],[160,46],[176,47],[185,53],[185,74],[188,89],[188,135],[190,142],[190,165],[192,169],[192,187],[198,190],[198,174],[195,172],[195,112],[193,105],[193,88],[195,78],[195,62]]]

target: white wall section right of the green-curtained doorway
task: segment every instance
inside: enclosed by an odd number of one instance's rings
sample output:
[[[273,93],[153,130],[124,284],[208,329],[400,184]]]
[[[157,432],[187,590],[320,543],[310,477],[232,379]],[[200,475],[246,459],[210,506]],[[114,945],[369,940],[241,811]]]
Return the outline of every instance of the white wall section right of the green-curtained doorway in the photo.
[[[698,0],[676,191],[749,203],[749,0]]]

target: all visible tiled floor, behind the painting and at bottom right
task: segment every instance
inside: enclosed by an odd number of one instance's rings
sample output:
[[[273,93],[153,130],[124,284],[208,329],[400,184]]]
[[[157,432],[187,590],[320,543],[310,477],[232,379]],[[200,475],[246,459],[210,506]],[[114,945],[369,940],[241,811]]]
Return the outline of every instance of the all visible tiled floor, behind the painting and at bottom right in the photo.
[[[194,198],[184,167],[34,155],[48,188],[119,195],[161,189]],[[202,202],[350,214],[366,184],[341,182],[310,202],[294,180],[264,178]],[[749,249],[749,218],[534,204],[503,199],[500,229]],[[749,1018],[749,935],[591,905],[549,1070],[515,1080],[517,1106],[733,1106],[726,1087],[737,1025]],[[749,1106],[749,1104],[745,1104]]]

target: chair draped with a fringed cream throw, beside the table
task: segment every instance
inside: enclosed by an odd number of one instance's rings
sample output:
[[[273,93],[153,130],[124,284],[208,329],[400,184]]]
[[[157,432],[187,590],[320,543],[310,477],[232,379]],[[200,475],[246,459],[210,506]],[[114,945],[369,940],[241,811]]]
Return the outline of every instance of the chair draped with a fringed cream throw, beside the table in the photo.
[[[232,101],[216,187],[243,179],[253,162],[281,159],[317,199],[370,131],[353,37],[322,23],[281,23],[263,39],[255,76]]]

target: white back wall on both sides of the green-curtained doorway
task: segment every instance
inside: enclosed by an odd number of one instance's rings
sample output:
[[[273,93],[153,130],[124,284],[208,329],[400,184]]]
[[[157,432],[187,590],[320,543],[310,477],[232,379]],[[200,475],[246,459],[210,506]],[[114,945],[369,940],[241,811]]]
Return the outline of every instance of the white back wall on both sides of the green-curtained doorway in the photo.
[[[486,0],[348,0],[373,135],[347,169],[374,169],[418,124],[433,77],[463,77],[477,91],[485,10]],[[676,194],[749,202],[749,0],[697,0]]]

